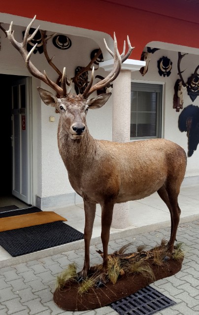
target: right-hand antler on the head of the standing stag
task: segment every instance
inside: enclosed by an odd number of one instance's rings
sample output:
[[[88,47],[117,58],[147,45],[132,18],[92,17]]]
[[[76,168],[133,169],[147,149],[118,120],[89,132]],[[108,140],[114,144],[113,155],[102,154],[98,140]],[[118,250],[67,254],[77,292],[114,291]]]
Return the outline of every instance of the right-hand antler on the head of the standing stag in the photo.
[[[89,85],[87,86],[87,88],[85,89],[85,91],[83,93],[83,97],[88,98],[88,96],[90,94],[92,94],[94,91],[103,88],[108,83],[112,82],[113,80],[115,80],[117,78],[117,76],[120,73],[122,63],[125,60],[127,60],[127,58],[131,55],[132,50],[134,48],[134,47],[131,46],[131,42],[129,40],[129,37],[127,37],[127,41],[128,41],[128,45],[129,45],[129,50],[128,50],[128,52],[125,55],[126,41],[124,41],[123,52],[120,55],[119,51],[118,51],[118,48],[117,48],[117,40],[116,40],[115,32],[114,32],[114,53],[109,49],[109,47],[107,46],[106,41],[104,39],[104,43],[105,43],[106,49],[111,54],[111,56],[114,58],[113,69],[112,69],[112,71],[108,74],[108,76],[105,79],[101,80],[100,82],[98,82],[98,83],[96,83],[95,85],[92,86],[93,79],[94,79],[94,68],[93,68],[92,75],[91,75],[91,81],[90,81]]]

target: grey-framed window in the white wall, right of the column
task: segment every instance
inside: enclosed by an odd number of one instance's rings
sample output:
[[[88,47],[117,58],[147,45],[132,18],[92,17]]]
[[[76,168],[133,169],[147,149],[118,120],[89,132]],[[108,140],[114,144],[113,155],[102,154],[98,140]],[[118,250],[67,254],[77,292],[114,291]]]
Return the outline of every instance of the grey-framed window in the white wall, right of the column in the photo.
[[[162,85],[131,85],[131,140],[161,138]]]

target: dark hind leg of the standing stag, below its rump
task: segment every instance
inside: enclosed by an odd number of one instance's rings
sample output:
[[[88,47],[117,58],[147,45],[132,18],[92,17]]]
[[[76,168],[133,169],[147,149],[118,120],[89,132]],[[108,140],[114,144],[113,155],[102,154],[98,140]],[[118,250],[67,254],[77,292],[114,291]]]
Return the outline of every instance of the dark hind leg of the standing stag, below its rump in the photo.
[[[177,201],[178,193],[176,192],[176,190],[166,189],[165,186],[162,186],[158,190],[158,194],[162,198],[162,200],[166,203],[170,212],[171,232],[170,232],[170,239],[168,241],[167,246],[168,246],[169,252],[172,253],[174,241],[176,239],[177,228],[180,221],[180,213],[181,213],[181,210]]]

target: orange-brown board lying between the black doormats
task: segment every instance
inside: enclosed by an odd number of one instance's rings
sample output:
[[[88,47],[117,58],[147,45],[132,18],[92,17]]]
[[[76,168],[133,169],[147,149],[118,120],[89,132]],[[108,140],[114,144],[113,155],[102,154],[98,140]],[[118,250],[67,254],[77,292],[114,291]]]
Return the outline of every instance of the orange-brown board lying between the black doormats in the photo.
[[[0,232],[32,227],[35,225],[51,223],[56,221],[67,221],[54,211],[41,211],[0,219]]]

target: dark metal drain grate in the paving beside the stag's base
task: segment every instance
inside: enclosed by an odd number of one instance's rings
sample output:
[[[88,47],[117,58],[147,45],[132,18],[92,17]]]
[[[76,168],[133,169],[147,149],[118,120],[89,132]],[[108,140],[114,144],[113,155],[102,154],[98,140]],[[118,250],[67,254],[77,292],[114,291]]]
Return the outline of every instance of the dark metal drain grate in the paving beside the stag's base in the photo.
[[[110,307],[120,315],[152,315],[176,304],[151,286],[111,303]]]

